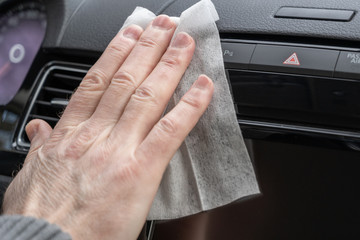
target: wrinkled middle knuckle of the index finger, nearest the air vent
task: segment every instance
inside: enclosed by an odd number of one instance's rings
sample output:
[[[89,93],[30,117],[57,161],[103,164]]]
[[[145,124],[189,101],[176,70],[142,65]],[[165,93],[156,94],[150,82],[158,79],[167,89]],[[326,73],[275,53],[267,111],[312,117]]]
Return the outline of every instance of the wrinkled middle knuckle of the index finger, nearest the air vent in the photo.
[[[100,69],[91,69],[83,81],[81,82],[79,89],[85,90],[100,90],[106,83],[107,75]]]

